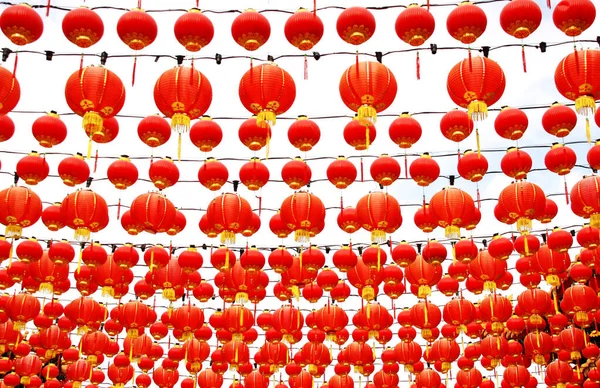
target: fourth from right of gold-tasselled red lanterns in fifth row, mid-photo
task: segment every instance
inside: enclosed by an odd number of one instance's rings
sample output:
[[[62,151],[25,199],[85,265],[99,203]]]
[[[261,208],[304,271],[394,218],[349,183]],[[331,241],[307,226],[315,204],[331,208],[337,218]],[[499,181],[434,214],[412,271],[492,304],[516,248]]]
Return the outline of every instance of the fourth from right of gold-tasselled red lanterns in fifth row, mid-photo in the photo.
[[[371,232],[371,241],[387,241],[387,233],[394,233],[402,225],[400,204],[390,194],[372,192],[362,197],[356,211],[362,227]]]

